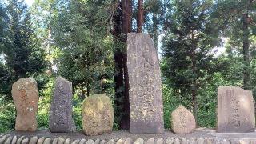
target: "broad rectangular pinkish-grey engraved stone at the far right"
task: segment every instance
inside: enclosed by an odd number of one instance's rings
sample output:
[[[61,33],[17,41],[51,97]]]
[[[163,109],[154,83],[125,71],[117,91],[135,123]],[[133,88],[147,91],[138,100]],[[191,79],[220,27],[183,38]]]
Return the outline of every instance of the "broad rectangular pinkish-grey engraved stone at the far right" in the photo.
[[[218,132],[252,132],[254,100],[250,90],[234,86],[218,88]]]

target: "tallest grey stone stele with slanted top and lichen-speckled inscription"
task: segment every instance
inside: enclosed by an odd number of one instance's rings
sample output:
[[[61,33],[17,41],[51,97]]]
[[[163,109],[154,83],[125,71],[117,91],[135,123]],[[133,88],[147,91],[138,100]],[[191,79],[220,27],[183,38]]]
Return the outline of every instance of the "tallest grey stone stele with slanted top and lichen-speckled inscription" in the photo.
[[[160,67],[158,53],[149,34],[128,34],[127,68],[130,132],[163,133]]]

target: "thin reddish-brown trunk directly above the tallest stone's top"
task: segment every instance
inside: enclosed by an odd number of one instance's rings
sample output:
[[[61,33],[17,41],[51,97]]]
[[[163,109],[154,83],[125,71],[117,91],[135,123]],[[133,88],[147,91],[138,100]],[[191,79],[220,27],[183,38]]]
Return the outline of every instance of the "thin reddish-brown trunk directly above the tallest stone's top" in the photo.
[[[138,0],[138,14],[137,14],[137,33],[142,33],[142,26],[144,20],[143,0]]]

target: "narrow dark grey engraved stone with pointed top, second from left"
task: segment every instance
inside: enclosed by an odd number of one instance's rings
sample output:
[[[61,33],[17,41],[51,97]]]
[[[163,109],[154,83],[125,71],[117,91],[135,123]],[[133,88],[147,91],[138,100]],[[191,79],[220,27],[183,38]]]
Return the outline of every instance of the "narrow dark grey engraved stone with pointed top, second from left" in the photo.
[[[58,77],[51,98],[49,127],[51,132],[75,131],[72,119],[72,82]]]

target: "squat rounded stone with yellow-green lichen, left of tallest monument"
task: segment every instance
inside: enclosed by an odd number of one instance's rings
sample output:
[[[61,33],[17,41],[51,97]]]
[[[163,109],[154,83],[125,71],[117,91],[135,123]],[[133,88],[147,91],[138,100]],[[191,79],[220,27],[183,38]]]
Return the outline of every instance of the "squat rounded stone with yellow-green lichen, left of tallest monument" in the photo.
[[[86,135],[110,133],[113,122],[113,106],[106,95],[95,94],[82,102],[82,127]]]

